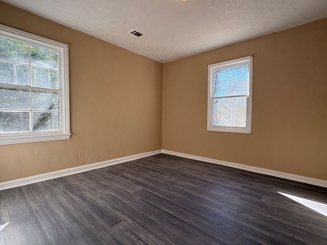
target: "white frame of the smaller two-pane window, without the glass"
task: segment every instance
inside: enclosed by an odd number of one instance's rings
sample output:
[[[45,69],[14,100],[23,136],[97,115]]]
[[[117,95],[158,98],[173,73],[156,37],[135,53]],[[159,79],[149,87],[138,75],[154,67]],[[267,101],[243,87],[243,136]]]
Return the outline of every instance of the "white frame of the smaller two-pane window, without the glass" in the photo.
[[[214,99],[214,72],[215,70],[226,69],[236,67],[240,65],[248,65],[248,93],[246,94],[246,126],[245,127],[233,127],[233,126],[215,126],[213,125],[213,102]],[[219,132],[231,132],[231,133],[251,133],[251,118],[252,118],[252,70],[253,70],[253,58],[247,56],[240,59],[220,62],[216,64],[208,65],[208,101],[207,101],[207,130],[219,131]],[[244,96],[244,95],[242,95]],[[229,97],[229,96],[226,96]],[[235,97],[235,96],[231,96]]]

